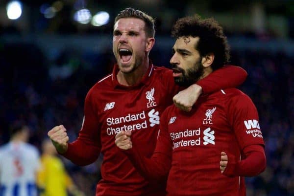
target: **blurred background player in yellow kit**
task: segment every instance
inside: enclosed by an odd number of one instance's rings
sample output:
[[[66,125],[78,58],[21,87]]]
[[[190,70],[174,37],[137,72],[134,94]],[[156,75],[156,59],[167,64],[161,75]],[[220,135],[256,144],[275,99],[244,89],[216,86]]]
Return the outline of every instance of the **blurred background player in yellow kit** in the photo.
[[[66,172],[63,162],[57,156],[49,139],[42,143],[41,165],[37,177],[40,196],[68,196],[67,191],[73,196],[84,195]]]

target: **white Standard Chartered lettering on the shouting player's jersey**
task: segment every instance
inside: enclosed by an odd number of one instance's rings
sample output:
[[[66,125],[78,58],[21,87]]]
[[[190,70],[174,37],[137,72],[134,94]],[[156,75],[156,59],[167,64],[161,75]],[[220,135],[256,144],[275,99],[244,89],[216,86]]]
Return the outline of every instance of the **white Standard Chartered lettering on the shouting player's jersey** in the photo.
[[[135,131],[135,130],[146,129],[147,120],[144,120],[144,119],[146,119],[145,111],[142,111],[141,113],[136,113],[136,114],[129,113],[125,116],[118,117],[118,118],[107,118],[106,123],[109,127],[106,129],[106,132],[108,135],[114,135],[121,131]],[[125,125],[125,123],[140,121],[140,120],[144,120],[144,121],[139,123],[134,123],[131,125]],[[120,127],[116,127],[116,126],[111,127],[113,125],[119,125],[119,124],[123,124],[123,125]]]

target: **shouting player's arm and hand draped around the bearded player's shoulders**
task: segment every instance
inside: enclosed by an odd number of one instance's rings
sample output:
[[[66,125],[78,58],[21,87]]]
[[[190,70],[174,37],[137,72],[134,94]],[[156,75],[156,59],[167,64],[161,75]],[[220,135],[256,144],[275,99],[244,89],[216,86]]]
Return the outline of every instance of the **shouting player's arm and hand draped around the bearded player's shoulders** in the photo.
[[[201,93],[206,94],[220,89],[237,87],[244,83],[246,77],[247,72],[243,68],[225,65],[199,80],[196,84],[179,91],[172,100],[177,108],[190,111]]]

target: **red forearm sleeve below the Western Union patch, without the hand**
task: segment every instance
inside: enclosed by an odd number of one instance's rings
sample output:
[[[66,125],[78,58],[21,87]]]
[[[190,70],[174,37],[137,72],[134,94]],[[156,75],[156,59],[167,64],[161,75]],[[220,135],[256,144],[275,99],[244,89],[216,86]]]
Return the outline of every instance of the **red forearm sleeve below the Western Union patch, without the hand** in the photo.
[[[228,155],[228,164],[222,174],[227,176],[254,176],[266,169],[267,160],[264,147],[258,144],[244,148],[245,159],[236,161]]]

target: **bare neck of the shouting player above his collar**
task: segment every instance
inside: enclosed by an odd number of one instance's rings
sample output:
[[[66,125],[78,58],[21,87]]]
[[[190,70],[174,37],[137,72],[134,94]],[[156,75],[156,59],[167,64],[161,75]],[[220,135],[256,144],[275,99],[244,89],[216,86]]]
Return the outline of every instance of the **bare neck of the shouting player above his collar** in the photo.
[[[138,84],[144,75],[146,74],[149,67],[149,59],[144,59],[142,65],[139,65],[136,70],[131,73],[118,72],[118,82],[124,86],[133,86]]]

